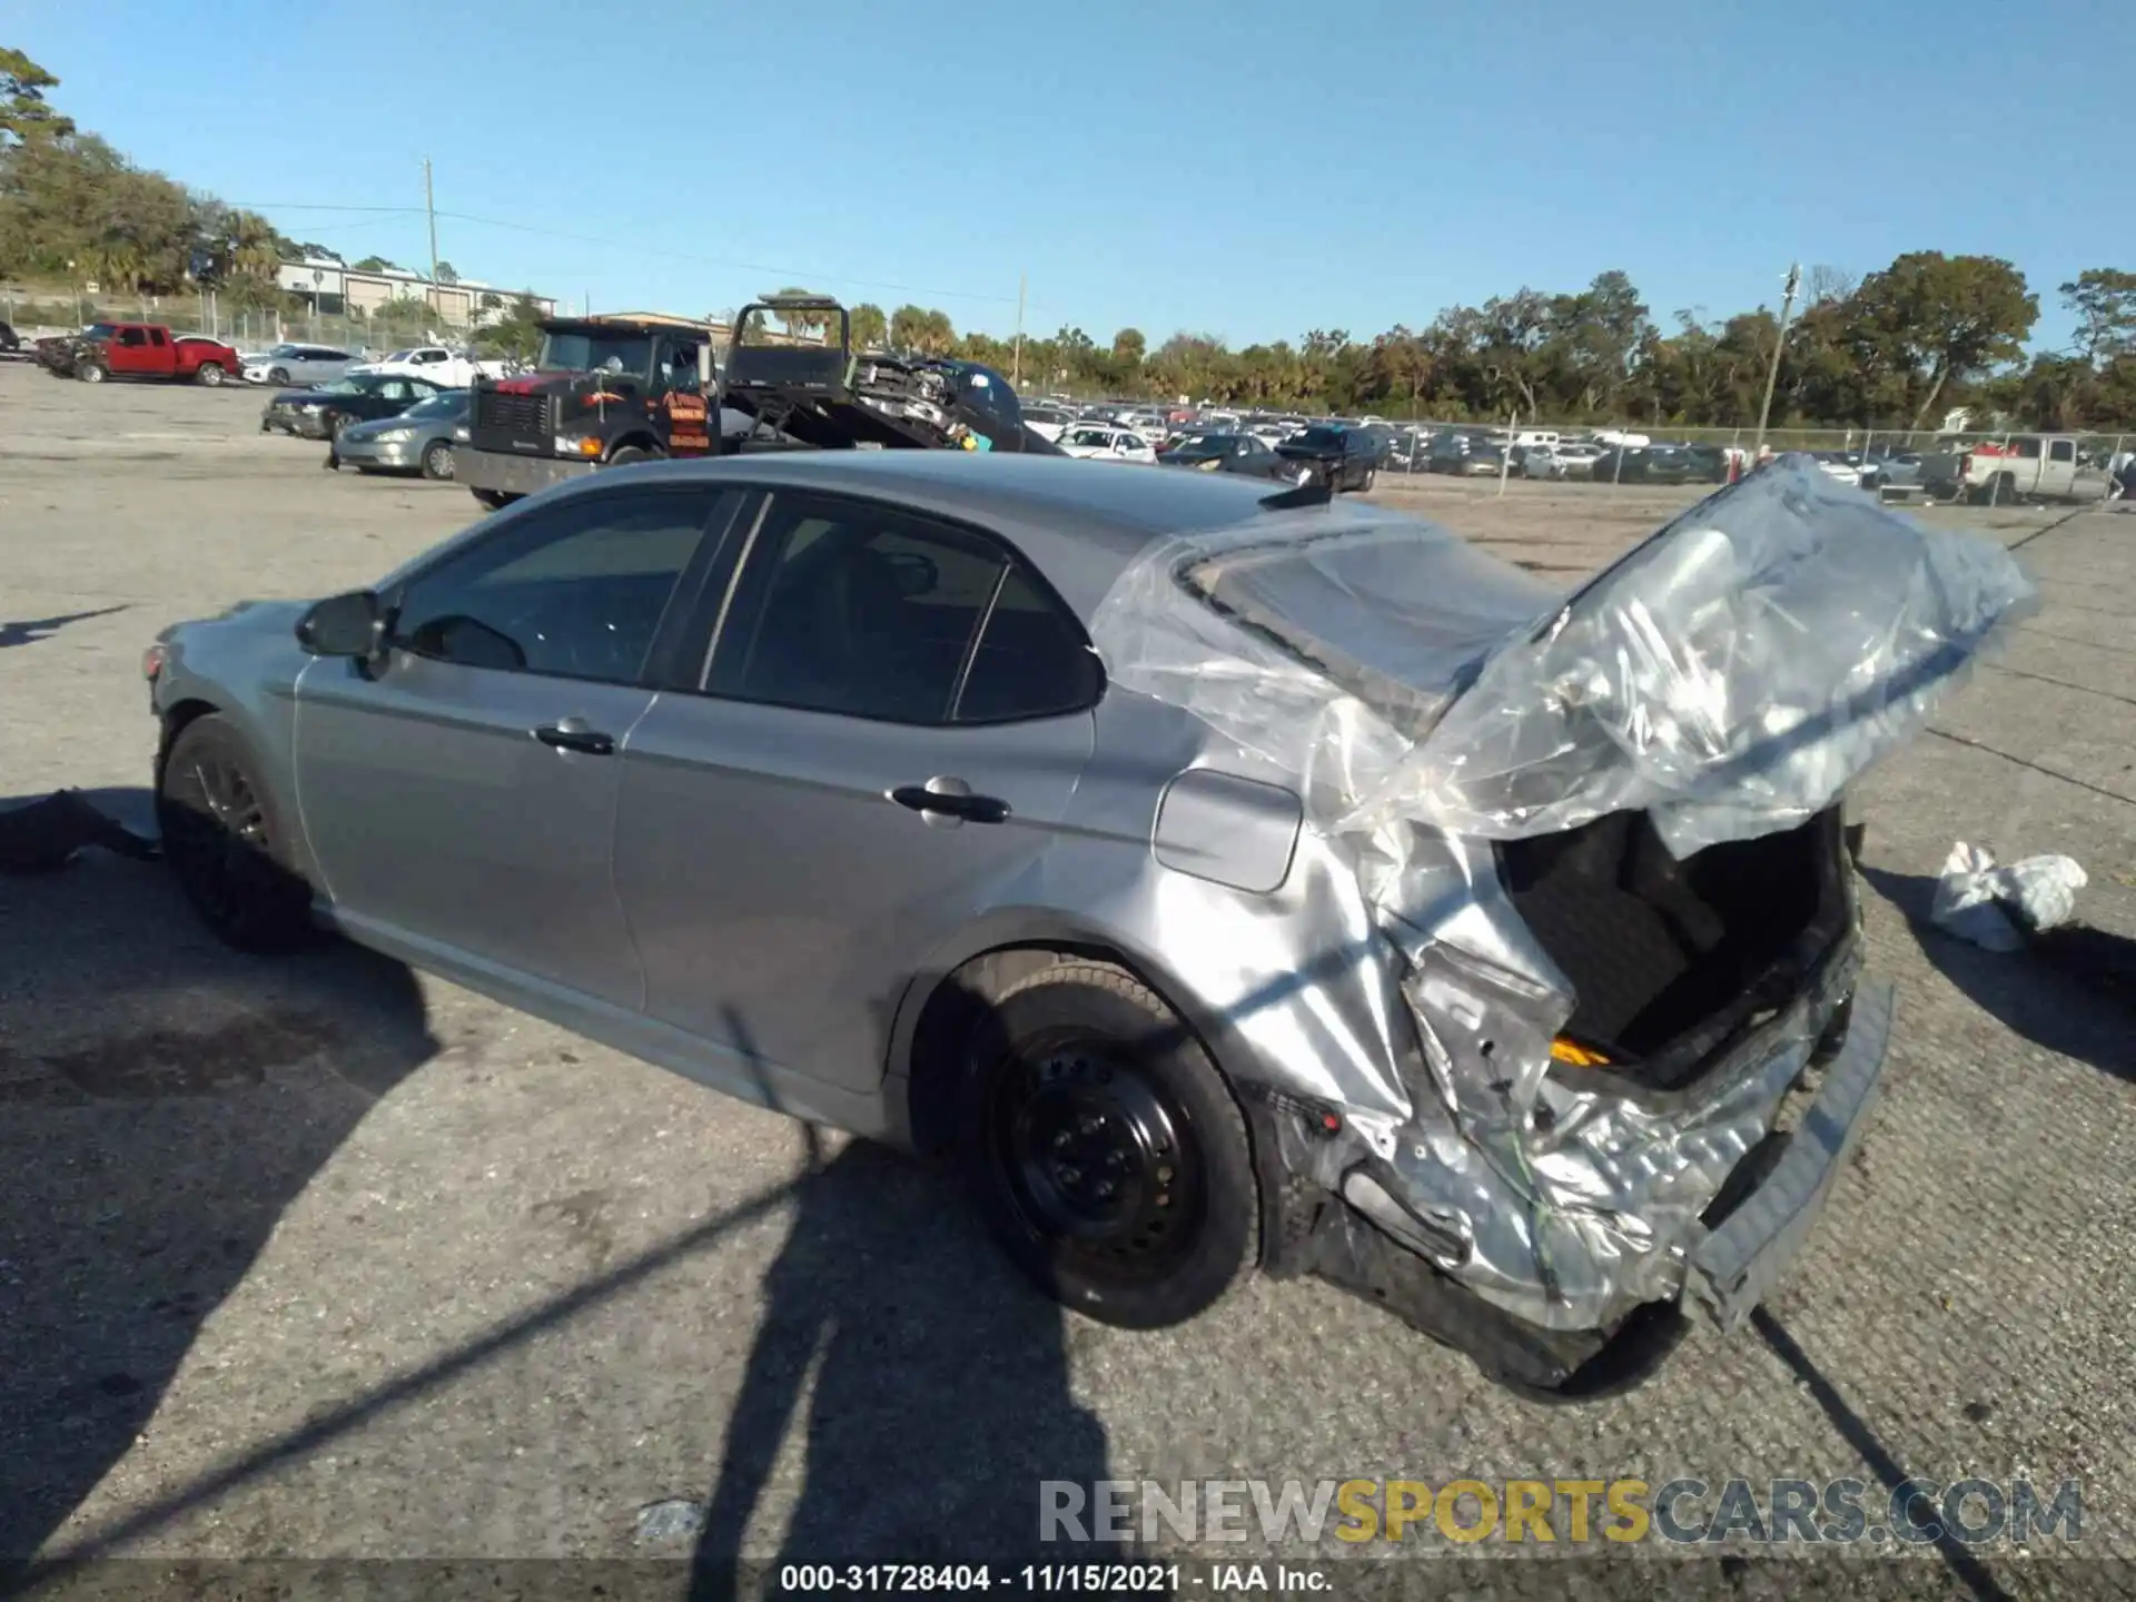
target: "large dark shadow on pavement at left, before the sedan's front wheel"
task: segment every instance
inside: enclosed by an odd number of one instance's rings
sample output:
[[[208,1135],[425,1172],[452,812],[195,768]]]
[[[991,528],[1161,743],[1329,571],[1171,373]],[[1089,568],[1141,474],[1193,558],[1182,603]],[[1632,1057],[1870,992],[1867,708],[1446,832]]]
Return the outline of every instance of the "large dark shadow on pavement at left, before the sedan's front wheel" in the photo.
[[[85,799],[152,816],[145,790]],[[0,876],[0,1589],[141,1438],[284,1207],[436,1051],[408,968],[346,944],[241,957],[156,861]]]

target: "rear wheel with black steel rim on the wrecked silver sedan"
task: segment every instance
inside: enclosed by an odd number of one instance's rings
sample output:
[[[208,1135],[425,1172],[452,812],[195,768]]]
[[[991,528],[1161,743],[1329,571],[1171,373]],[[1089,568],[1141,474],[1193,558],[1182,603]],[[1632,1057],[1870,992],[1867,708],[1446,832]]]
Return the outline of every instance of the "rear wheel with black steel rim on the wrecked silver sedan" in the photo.
[[[959,1166],[1049,1297],[1162,1329],[1260,1250],[1245,1119],[1194,1034],[1134,974],[1068,959],[1010,985],[965,1042]]]

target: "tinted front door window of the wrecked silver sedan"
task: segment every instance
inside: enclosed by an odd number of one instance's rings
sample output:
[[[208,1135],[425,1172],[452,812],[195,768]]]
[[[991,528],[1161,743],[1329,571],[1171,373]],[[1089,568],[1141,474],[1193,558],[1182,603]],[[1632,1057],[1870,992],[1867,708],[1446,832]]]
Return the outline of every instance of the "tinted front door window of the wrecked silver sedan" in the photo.
[[[440,662],[637,684],[713,493],[590,493],[511,519],[399,596],[393,641]]]

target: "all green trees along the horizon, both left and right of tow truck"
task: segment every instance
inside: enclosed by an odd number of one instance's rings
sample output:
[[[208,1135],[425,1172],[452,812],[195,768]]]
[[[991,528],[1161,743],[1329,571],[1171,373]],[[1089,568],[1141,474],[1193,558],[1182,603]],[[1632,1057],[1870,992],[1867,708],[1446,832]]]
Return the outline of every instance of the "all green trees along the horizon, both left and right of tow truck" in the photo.
[[[28,56],[0,47],[0,278],[94,278],[128,295],[177,295],[211,280],[233,308],[295,308],[276,265],[331,252],[135,167],[51,105],[56,85]],[[2040,295],[1999,256],[1916,250],[1863,278],[1816,269],[1786,329],[1771,421],[1920,429],[1965,406],[1976,425],[2136,429],[2136,271],[2087,269],[2057,295],[2076,337],[2027,355]],[[487,342],[530,352],[532,299],[493,310],[500,329]],[[425,318],[419,299],[372,316],[384,329]],[[959,355],[1019,374],[1025,393],[1679,427],[1756,423],[1781,335],[1766,305],[1728,318],[1658,316],[1621,271],[1579,290],[1519,288],[1371,337],[1312,329],[1243,348],[1185,331],[1151,348],[1132,327],[1106,342],[1079,327],[1006,340],[959,333],[946,312],[925,305],[861,303],[850,325],[859,348]],[[788,329],[822,335],[827,320],[797,310]]]

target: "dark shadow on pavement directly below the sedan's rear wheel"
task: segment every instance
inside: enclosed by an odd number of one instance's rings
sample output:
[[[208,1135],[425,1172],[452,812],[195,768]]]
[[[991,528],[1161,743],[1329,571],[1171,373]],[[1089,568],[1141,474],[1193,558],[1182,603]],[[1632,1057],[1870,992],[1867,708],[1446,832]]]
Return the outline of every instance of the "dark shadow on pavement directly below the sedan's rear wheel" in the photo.
[[[788,1499],[773,1564],[1132,1555],[1040,1540],[1045,1480],[1089,1495],[1106,1478],[1104,1425],[1070,1393],[1062,1309],[1015,1275],[936,1171],[863,1141],[824,1158],[816,1130],[805,1138],[692,1598],[750,1593],[752,1514]],[[797,1420],[807,1478],[786,1497],[775,1470]]]

